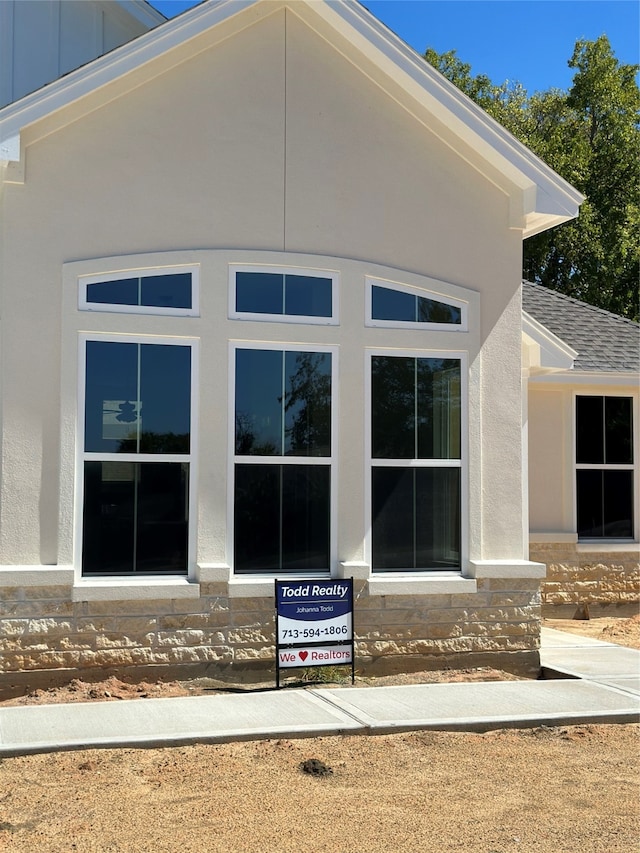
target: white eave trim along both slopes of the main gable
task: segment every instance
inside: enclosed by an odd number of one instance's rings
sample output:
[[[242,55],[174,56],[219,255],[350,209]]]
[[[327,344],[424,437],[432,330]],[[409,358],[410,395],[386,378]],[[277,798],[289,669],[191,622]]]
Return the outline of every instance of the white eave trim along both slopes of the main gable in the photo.
[[[0,110],[0,161],[21,134],[64,126],[202,50],[286,8],[359,67],[509,198],[528,237],[577,216],[582,195],[460,92],[357,0],[205,0],[132,42]],[[40,138],[30,132],[30,141]]]

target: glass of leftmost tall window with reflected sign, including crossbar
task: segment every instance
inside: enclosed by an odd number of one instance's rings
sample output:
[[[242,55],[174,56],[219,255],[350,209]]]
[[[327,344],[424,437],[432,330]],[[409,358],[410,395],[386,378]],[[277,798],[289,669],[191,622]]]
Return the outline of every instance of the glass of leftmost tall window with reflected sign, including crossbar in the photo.
[[[84,346],[82,572],[185,575],[192,346]]]

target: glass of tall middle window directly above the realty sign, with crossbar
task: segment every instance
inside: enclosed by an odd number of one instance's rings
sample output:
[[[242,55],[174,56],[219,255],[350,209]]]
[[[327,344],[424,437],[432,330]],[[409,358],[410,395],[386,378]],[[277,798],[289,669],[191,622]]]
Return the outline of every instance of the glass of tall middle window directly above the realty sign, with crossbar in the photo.
[[[234,566],[328,572],[333,354],[235,350]]]

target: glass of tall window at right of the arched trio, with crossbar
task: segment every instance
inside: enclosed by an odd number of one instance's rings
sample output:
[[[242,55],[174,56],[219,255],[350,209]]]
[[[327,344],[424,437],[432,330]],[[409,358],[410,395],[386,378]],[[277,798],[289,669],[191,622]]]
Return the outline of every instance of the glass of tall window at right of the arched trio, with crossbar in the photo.
[[[461,568],[460,365],[371,357],[374,572]]]

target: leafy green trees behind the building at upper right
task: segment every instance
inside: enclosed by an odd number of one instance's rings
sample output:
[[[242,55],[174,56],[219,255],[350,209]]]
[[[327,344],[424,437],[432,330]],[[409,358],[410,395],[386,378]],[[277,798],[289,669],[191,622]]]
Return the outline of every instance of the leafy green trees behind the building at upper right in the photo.
[[[525,241],[525,278],[637,320],[638,66],[620,64],[606,36],[578,41],[570,89],[528,95],[474,77],[455,51],[425,58],[586,196],[578,219]]]

